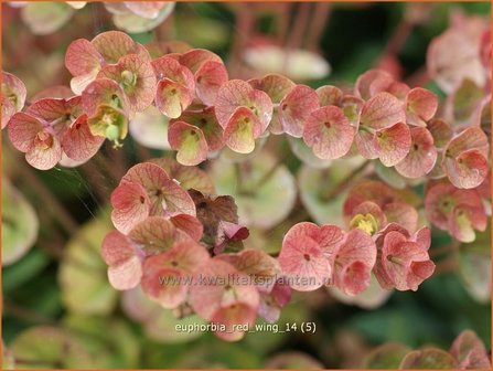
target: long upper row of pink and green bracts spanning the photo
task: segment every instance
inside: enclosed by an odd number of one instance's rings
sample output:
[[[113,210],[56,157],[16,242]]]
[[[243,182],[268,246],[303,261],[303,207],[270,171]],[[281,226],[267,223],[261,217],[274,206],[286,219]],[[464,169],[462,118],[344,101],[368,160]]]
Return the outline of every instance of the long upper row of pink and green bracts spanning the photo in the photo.
[[[24,152],[34,148],[30,162],[43,169],[53,167],[63,151],[73,160],[87,160],[101,137],[120,146],[128,123],[154,104],[170,119],[168,140],[186,166],[203,162],[223,147],[249,153],[261,145],[260,138],[286,134],[302,138],[319,159],[360,153],[407,179],[447,176],[457,188],[472,189],[487,176],[489,142],[478,123],[449,125],[436,117],[433,93],[410,88],[386,72],[364,73],[351,92],[331,85],[315,91],[276,74],[229,80],[216,54],[183,51],[183,45],[175,52],[172,46],[158,53],[151,47],[151,56],[118,31],[74,41],[65,65],[79,98],[56,104],[41,99],[33,105],[43,106],[43,115],[31,108],[13,115],[12,142]],[[60,107],[44,115],[53,105]],[[74,125],[79,117],[84,123]],[[19,129],[25,126],[31,129]],[[72,128],[76,131],[64,140]],[[81,148],[81,137],[89,145]]]

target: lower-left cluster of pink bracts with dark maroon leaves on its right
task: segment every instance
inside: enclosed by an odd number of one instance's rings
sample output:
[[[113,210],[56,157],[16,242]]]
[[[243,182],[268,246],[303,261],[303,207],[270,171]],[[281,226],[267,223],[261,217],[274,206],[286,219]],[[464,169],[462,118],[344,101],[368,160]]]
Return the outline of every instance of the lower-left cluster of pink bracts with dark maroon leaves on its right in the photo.
[[[172,159],[132,167],[111,194],[118,231],[106,235],[103,258],[116,289],[140,284],[163,308],[195,312],[237,340],[235,326],[257,315],[276,321],[290,289],[274,257],[243,248],[248,230],[233,198],[213,193],[205,172]]]

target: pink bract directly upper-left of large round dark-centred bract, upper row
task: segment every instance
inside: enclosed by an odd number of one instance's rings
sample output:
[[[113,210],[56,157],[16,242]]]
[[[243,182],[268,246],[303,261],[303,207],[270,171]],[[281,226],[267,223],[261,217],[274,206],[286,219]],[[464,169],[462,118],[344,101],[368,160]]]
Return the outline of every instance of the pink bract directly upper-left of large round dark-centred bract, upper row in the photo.
[[[294,86],[279,103],[278,115],[285,132],[301,138],[304,121],[320,107],[317,92],[306,85]]]

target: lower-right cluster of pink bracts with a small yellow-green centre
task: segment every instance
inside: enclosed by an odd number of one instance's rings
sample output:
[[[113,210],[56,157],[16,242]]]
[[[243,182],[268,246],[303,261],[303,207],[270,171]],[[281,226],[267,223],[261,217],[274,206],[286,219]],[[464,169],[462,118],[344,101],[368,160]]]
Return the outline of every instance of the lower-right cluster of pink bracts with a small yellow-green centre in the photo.
[[[376,276],[385,289],[417,290],[435,271],[427,226],[417,230],[418,213],[403,197],[377,181],[354,187],[345,203],[349,231],[335,225],[299,223],[289,230],[279,255],[288,277],[306,277],[312,290],[335,286],[344,294],[364,292]]]

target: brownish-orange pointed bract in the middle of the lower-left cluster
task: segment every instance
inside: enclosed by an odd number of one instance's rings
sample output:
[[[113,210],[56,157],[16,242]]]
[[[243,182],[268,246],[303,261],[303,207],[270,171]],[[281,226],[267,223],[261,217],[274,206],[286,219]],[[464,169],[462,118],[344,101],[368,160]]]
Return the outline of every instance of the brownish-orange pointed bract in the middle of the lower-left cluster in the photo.
[[[137,224],[128,236],[146,255],[165,252],[182,241],[193,241],[163,216],[147,218]]]

